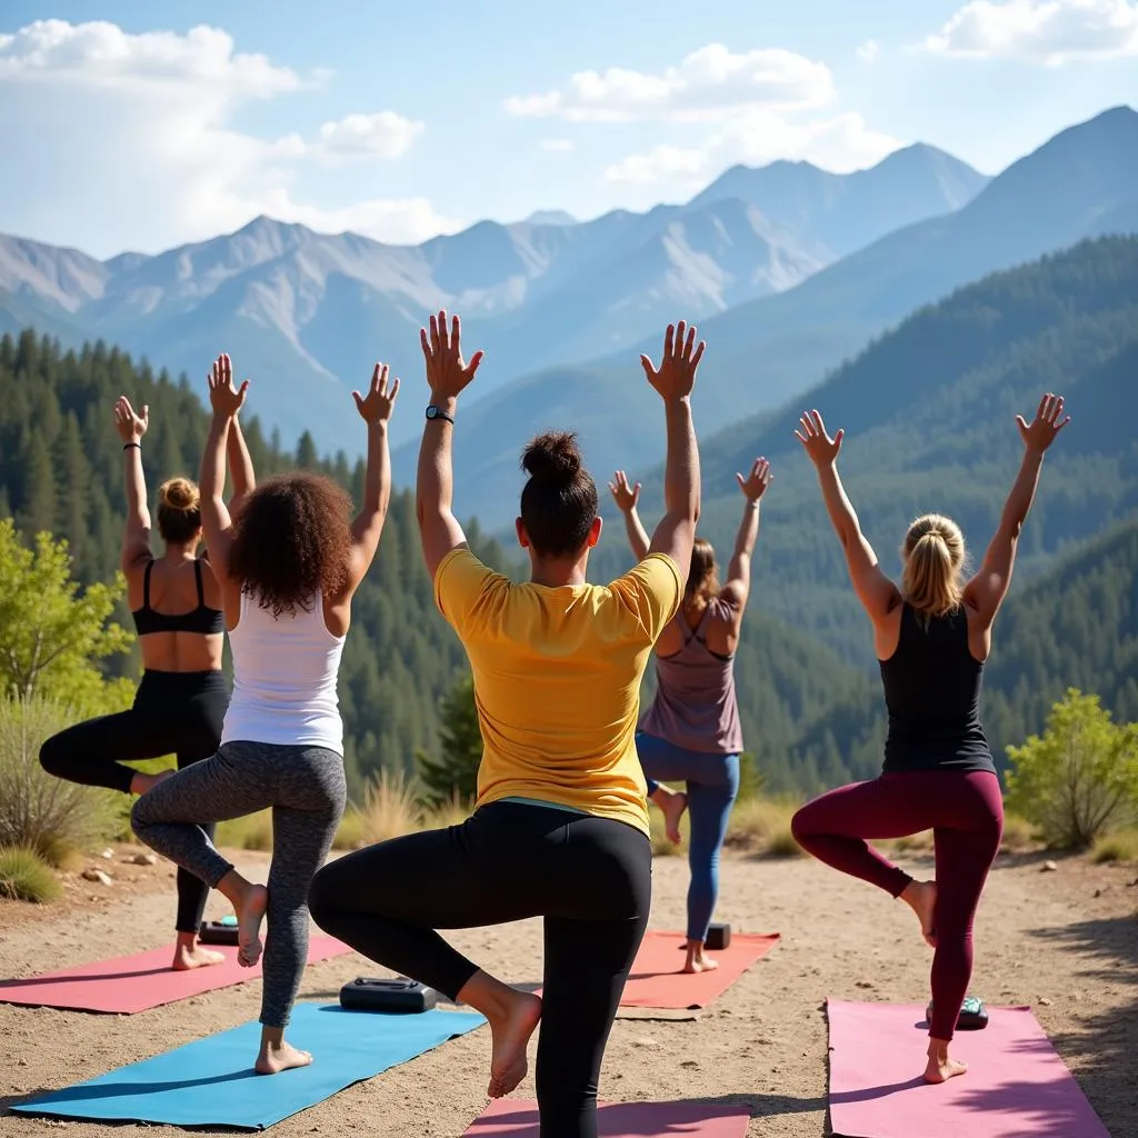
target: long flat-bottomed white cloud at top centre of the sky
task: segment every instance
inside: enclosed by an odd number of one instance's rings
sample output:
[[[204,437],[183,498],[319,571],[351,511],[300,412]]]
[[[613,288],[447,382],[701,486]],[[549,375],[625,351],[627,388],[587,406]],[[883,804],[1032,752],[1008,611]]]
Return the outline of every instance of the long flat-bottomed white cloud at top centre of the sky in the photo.
[[[621,67],[578,72],[561,90],[506,99],[505,109],[569,122],[698,122],[751,106],[824,106],[833,94],[825,64],[780,48],[736,53],[709,43],[658,75]]]

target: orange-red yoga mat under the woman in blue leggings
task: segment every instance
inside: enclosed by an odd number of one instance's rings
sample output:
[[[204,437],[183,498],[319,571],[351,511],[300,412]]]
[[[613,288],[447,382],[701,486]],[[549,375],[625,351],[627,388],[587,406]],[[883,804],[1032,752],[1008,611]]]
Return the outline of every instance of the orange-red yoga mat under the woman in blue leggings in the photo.
[[[620,997],[621,1007],[707,1007],[778,943],[778,933],[732,933],[727,948],[708,954],[719,967],[692,974],[679,971],[684,955],[678,949],[686,940],[678,932],[649,932],[644,937]]]

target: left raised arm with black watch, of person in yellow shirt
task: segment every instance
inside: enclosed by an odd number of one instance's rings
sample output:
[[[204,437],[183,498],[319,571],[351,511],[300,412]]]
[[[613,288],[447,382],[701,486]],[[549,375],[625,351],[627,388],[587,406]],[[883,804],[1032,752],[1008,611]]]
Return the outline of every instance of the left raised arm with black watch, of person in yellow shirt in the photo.
[[[430,332],[424,328],[419,330],[427,362],[430,404],[427,407],[422,445],[419,447],[415,512],[419,517],[423,559],[432,580],[443,558],[467,544],[467,535],[451,509],[454,502],[451,444],[459,396],[475,378],[484,353],[476,352],[470,363],[467,363],[462,358],[460,346],[461,331],[457,316],[450,331],[447,330],[445,312],[430,318]]]

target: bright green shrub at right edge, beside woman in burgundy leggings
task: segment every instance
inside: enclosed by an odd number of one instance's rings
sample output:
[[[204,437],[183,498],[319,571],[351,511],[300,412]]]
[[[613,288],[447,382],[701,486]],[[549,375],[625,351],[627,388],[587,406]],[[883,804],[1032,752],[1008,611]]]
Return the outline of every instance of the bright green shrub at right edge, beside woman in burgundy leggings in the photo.
[[[1085,849],[1138,807],[1138,724],[1115,724],[1097,695],[1070,688],[1042,736],[1009,747],[1008,806],[1044,841]]]

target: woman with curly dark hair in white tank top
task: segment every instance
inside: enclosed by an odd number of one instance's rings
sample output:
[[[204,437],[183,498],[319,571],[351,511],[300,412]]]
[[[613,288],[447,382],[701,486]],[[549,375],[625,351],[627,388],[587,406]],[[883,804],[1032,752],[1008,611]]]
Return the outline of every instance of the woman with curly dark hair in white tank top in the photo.
[[[312,1062],[284,1041],[308,956],[308,887],[344,814],[344,725],[336,679],[352,596],[376,555],[390,500],[387,424],[399,381],[376,364],[368,396],[353,393],[368,424],[363,509],[320,475],[267,479],[231,518],[221,497],[225,446],[245,402],[229,356],[209,377],[213,423],[201,460],[203,521],[221,584],[233,651],[233,698],[216,754],[158,783],[134,803],[134,832],[220,890],[238,918],[238,959],[261,957],[267,918],[261,1050],[275,1074]],[[217,852],[203,820],[272,807],[269,884],[255,884]]]

